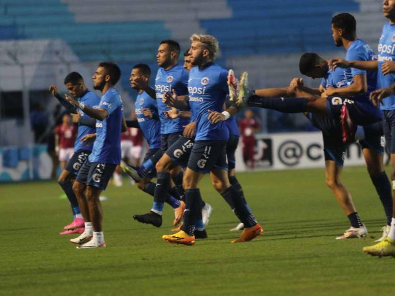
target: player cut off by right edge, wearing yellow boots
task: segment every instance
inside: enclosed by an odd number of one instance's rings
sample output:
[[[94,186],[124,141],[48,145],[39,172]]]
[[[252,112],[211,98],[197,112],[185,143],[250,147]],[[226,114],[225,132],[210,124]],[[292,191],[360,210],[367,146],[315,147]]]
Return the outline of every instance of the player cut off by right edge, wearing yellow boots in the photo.
[[[370,93],[370,99],[383,111],[383,126],[386,145],[390,152],[392,190],[395,190],[395,95],[392,85],[395,83],[395,1],[383,1],[384,16],[389,22],[384,24],[378,46],[378,61],[345,61],[336,58],[330,61],[332,67],[357,68],[366,71],[378,71],[379,90]],[[394,205],[395,206],[395,205]],[[363,251],[376,256],[395,255],[395,208],[392,211],[388,236],[383,241],[363,248]]]

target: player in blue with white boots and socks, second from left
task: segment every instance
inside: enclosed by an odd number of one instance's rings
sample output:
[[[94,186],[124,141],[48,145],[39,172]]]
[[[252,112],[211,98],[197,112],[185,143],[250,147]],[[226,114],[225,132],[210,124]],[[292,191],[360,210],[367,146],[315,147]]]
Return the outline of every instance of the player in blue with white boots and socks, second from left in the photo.
[[[126,125],[121,96],[114,88],[120,77],[121,70],[118,65],[109,62],[99,64],[93,76],[94,88],[103,93],[97,109],[66,96],[69,103],[97,120],[92,153],[80,168],[73,185],[85,220],[85,231],[71,239],[71,242],[79,244],[78,249],[106,246],[102,229],[103,209],[99,196],[106,189],[115,167],[121,161],[121,132],[126,130]]]

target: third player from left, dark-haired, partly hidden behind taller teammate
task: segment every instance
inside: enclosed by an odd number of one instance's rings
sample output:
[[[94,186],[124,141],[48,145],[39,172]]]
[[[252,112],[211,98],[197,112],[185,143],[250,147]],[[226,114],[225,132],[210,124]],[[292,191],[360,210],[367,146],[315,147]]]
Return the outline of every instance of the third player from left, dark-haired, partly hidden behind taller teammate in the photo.
[[[143,167],[151,168],[150,171],[146,172],[146,177],[137,181],[137,187],[154,196],[156,184],[151,182],[151,179],[156,177],[155,164],[162,157],[163,152],[160,149],[160,121],[157,102],[146,91],[144,91],[144,89],[147,89],[146,84],[148,84],[150,74],[151,69],[148,65],[137,64],[133,66],[129,80],[130,86],[138,91],[135,103],[135,113],[138,124],[135,127],[138,127],[143,131],[144,137],[149,145],[149,150],[143,160]],[[122,168],[127,172],[127,174],[131,174],[130,170],[133,169],[126,164],[122,164]],[[174,209],[175,219],[173,224],[176,225],[182,218],[185,204],[184,202],[174,198],[170,193],[162,192],[162,194],[164,195],[165,202]],[[156,227],[160,227],[161,220],[160,223],[158,223],[158,220],[154,219],[151,224]]]

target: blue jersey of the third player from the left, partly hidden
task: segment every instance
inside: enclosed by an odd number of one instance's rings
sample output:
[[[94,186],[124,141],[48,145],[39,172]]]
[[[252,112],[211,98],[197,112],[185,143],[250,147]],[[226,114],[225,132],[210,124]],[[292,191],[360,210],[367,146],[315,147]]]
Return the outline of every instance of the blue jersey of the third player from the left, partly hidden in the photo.
[[[143,131],[150,149],[160,147],[160,121],[153,119],[143,114],[142,109],[148,108],[151,110],[152,115],[158,115],[158,107],[156,100],[148,95],[145,91],[139,93],[136,98],[135,112],[137,116],[138,125]]]

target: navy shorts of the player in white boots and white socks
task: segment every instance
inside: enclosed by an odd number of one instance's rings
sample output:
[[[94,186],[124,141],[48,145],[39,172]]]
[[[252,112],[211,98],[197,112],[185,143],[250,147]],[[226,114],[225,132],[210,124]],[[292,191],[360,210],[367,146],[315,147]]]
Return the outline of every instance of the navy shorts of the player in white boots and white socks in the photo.
[[[116,164],[90,162],[87,159],[81,166],[76,181],[87,186],[97,187],[105,190],[114,173]]]

